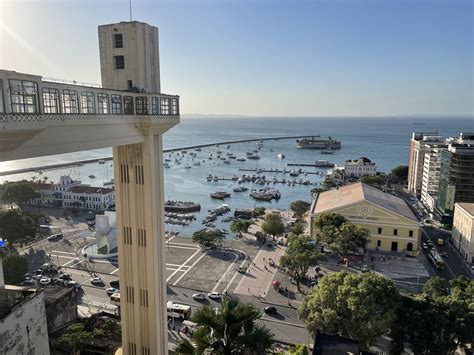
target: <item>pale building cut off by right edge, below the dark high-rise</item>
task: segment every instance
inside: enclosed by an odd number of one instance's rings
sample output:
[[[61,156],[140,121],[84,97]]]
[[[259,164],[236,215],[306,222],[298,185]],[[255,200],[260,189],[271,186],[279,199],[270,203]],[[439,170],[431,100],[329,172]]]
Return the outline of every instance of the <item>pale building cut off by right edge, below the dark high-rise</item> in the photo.
[[[474,203],[456,203],[452,241],[464,260],[474,264]]]

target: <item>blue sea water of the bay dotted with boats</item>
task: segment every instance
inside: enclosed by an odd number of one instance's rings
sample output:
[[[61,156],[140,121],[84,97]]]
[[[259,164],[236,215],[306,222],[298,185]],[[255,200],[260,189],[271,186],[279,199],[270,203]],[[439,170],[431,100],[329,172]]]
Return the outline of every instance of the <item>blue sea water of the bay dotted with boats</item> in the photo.
[[[252,172],[239,171],[239,168],[261,168],[261,169],[289,169],[287,163],[313,163],[315,160],[329,160],[337,165],[343,165],[347,159],[355,159],[366,156],[375,162],[379,171],[388,172],[397,165],[406,165],[408,161],[408,148],[411,134],[414,131],[437,131],[440,135],[449,137],[456,136],[459,132],[474,131],[472,118],[449,118],[449,117],[411,117],[411,118],[251,118],[251,117],[182,117],[181,123],[167,132],[164,137],[164,148],[180,148],[196,144],[211,144],[222,141],[239,139],[259,139],[266,137],[317,135],[321,137],[331,136],[342,143],[342,149],[332,155],[322,155],[318,150],[297,149],[294,139],[264,141],[259,151],[260,160],[247,160],[237,162],[231,160],[229,165],[223,164],[216,159],[209,160],[208,154],[216,156],[220,149],[233,152],[237,157],[244,156],[247,151],[257,149],[255,142],[221,145],[219,148],[203,148],[201,152],[195,152],[198,156],[193,160],[189,154],[178,158],[177,153],[165,158],[171,158],[170,168],[165,171],[165,198],[172,200],[194,201],[201,203],[201,212],[196,215],[197,221],[190,226],[171,226],[170,230],[179,230],[181,234],[190,235],[195,230],[202,228],[201,220],[207,215],[207,211],[222,203],[228,204],[232,211],[235,208],[246,208],[254,206],[267,206],[274,208],[286,208],[288,204],[296,199],[310,201],[310,190],[313,186],[295,185],[286,186],[282,184],[271,184],[281,191],[282,198],[275,202],[255,201],[249,196],[249,192],[235,193],[232,189],[237,185],[234,181],[207,182],[209,174],[219,177],[230,178],[232,175],[253,175]],[[417,124],[414,124],[417,123]],[[285,159],[278,159],[277,154],[285,154]],[[103,158],[111,156],[111,149],[98,149],[92,151],[78,152],[74,154],[63,154],[35,159],[25,159],[12,162],[0,163],[1,171],[8,171],[22,167],[42,166],[56,164],[59,162],[70,162],[82,159]],[[181,164],[176,164],[175,159]],[[201,166],[194,166],[199,161]],[[191,166],[186,169],[185,166]],[[106,164],[86,164],[81,167],[64,168],[58,170],[44,171],[38,173],[17,174],[0,177],[0,182],[5,180],[18,180],[22,178],[44,179],[57,181],[61,175],[69,174],[83,183],[101,186],[104,181],[113,177],[111,162]],[[326,168],[303,168],[308,172],[307,176],[300,175],[295,178],[309,179],[317,184],[322,181],[319,175],[313,172],[324,172]],[[94,179],[89,178],[95,175]],[[289,178],[288,174],[264,173],[267,178],[273,176],[282,179]],[[293,178],[292,178],[293,179]],[[245,184],[251,188],[253,186]],[[209,194],[215,191],[228,191],[231,197],[225,201],[213,200]],[[216,227],[225,228],[226,223],[216,222]]]

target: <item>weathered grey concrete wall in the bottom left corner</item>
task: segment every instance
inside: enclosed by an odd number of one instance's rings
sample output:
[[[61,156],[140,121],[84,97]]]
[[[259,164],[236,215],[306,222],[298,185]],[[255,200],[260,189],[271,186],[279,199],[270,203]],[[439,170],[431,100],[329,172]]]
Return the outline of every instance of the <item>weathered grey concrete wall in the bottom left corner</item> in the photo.
[[[49,354],[43,292],[24,300],[0,320],[0,354]]]

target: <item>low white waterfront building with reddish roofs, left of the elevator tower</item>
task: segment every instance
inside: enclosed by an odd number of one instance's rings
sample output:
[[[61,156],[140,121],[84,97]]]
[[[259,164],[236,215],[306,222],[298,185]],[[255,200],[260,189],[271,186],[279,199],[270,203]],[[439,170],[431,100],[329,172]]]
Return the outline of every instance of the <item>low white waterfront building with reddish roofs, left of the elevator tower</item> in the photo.
[[[114,189],[82,185],[69,176],[61,176],[59,184],[38,183],[38,198],[31,201],[36,206],[77,207],[88,210],[103,210],[115,201]]]

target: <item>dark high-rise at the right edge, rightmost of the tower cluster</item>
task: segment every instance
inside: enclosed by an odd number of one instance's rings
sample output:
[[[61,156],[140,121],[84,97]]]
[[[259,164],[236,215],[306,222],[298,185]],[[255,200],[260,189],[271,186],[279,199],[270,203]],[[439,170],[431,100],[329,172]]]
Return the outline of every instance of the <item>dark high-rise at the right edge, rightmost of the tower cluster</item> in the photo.
[[[474,141],[453,141],[441,152],[436,218],[450,224],[457,202],[474,202]]]

